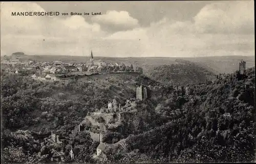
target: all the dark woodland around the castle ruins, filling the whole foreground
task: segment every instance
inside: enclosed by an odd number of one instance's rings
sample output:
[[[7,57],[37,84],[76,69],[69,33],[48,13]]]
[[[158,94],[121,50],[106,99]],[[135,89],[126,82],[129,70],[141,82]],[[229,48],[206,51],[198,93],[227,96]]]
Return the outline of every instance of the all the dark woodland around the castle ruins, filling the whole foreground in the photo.
[[[166,78],[168,72],[185,69],[180,64],[159,67],[157,72],[161,73],[162,68],[169,69],[161,74]],[[191,78],[204,74],[199,69],[194,72]],[[152,74],[157,79],[154,71]],[[254,74],[254,68],[250,68],[245,74],[234,72],[224,79],[207,81],[203,77],[189,82],[191,92],[177,95],[175,83],[163,85],[144,75],[127,77],[133,79],[129,84],[119,79],[106,79],[104,83],[77,79],[42,83],[1,72],[2,162],[48,161],[52,147],[41,146],[40,141],[51,130],[84,148],[75,159],[80,163],[250,162],[255,154]],[[169,75],[168,79],[176,79]],[[198,82],[201,85],[193,85]],[[98,143],[91,140],[89,133],[78,132],[77,125],[113,98],[121,104],[134,98],[131,85],[135,83],[155,86],[151,88],[155,98],[136,101],[137,112],[123,114],[122,124],[103,138],[114,145],[95,161],[92,154]],[[124,141],[125,149],[115,144],[119,140]],[[64,149],[66,161],[71,162],[71,145]]]

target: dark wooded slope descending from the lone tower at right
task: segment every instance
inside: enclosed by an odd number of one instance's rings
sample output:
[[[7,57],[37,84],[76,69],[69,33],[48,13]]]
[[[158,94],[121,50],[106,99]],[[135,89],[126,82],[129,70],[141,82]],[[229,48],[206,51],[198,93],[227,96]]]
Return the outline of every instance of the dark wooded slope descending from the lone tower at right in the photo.
[[[255,160],[255,71],[227,75],[160,103],[172,121],[106,150],[103,162],[251,162]],[[205,94],[204,92],[207,91]],[[178,100],[178,101],[177,101]],[[182,104],[177,108],[177,104]],[[167,111],[167,112],[165,112]]]

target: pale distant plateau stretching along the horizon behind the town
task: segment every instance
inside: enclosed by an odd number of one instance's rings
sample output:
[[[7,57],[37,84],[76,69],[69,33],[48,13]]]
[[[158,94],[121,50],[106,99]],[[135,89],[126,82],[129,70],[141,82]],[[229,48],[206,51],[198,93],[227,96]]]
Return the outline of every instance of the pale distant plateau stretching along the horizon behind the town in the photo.
[[[2,58],[2,57],[1,57]],[[56,61],[62,62],[86,62],[90,61],[90,57],[82,56],[23,56],[20,57],[25,61]],[[152,67],[160,65],[177,64],[176,60],[182,59],[189,62],[194,62],[207,69],[208,71],[217,73],[231,73],[238,69],[238,63],[241,59],[246,61],[246,67],[250,68],[255,66],[254,56],[227,56],[227,57],[198,57],[198,58],[161,58],[161,57],[149,57],[149,58],[110,58],[110,57],[94,57],[96,59],[102,59],[107,62],[120,62],[125,65],[133,64],[134,67],[142,67],[144,70],[152,69]]]

